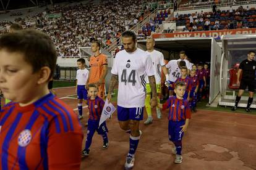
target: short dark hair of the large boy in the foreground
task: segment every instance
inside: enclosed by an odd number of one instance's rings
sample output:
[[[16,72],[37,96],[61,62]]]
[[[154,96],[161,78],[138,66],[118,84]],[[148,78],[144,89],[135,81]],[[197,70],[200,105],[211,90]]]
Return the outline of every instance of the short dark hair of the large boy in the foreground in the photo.
[[[56,67],[56,49],[49,36],[41,31],[28,29],[4,34],[0,38],[0,50],[19,52],[33,68],[33,73],[49,67],[53,76]]]

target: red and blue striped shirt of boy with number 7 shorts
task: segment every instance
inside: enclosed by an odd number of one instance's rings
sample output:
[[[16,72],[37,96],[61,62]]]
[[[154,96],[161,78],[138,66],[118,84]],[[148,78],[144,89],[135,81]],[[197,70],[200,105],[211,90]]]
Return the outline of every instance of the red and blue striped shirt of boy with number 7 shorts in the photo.
[[[189,102],[186,99],[177,99],[176,96],[172,96],[163,104],[163,110],[167,108],[170,108],[169,121],[181,121],[191,118]]]

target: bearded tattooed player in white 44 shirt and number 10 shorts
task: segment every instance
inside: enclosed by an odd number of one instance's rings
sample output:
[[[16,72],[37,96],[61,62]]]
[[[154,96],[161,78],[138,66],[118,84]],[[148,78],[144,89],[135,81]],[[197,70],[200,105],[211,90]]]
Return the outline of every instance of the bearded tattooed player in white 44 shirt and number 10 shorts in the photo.
[[[153,96],[151,107],[155,107],[157,104],[156,80],[150,55],[136,47],[136,34],[133,31],[122,33],[122,44],[124,50],[116,54],[111,70],[108,101],[110,102],[111,92],[118,83],[117,118],[121,129],[130,133],[130,150],[124,168],[132,169],[134,154],[142,135],[139,123],[143,119],[143,107],[147,92],[145,75],[148,76]]]

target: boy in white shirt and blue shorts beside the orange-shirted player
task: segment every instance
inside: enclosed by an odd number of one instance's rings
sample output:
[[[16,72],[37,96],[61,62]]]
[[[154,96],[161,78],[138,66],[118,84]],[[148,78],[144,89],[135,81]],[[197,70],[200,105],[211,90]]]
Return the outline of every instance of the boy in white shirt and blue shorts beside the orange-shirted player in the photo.
[[[77,76],[76,76],[76,86],[75,92],[77,92],[77,108],[79,110],[79,119],[83,118],[83,100],[87,104],[87,89],[85,84],[87,83],[89,71],[85,68],[85,59],[80,58],[77,60]]]

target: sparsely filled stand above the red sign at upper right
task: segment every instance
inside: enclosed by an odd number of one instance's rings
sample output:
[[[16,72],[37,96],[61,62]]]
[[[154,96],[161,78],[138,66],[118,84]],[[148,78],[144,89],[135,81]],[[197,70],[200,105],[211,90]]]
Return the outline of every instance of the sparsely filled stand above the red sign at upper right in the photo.
[[[183,31],[207,31],[238,28],[256,28],[256,10],[242,6],[216,12],[200,12],[176,15],[177,26],[186,26]]]

